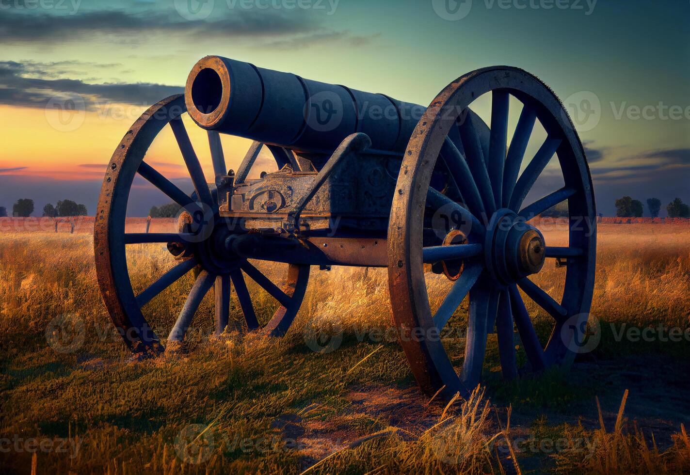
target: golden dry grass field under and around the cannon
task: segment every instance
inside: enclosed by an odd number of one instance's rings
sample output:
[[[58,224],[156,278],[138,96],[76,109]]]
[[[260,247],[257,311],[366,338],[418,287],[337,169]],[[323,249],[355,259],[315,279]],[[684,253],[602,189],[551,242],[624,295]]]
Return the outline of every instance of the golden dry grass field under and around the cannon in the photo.
[[[591,310],[600,343],[566,374],[504,383],[490,335],[484,386],[450,404],[417,390],[387,336],[386,270],[313,269],[280,339],[211,338],[211,292],[188,356],[132,361],[101,302],[92,236],[80,230],[0,232],[2,472],[690,470],[687,224],[600,225]],[[566,244],[562,225],[544,234]],[[137,288],[171,265],[161,245],[132,246],[128,260]],[[558,297],[563,277],[547,261],[535,281]],[[172,324],[188,285],[149,304],[155,325]],[[250,291],[265,320],[272,301]],[[463,312],[466,302],[460,322]],[[546,338],[545,317],[535,319]]]

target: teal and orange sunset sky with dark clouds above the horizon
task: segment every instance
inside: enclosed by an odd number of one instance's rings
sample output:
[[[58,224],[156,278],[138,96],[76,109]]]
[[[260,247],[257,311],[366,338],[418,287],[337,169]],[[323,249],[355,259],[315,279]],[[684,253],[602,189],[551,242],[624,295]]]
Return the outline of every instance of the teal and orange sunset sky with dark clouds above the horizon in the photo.
[[[219,54],[423,105],[471,70],[523,68],[573,117],[598,211],[658,197],[663,216],[676,196],[690,202],[689,19],[680,0],[0,0],[0,206],[31,198],[36,216],[73,199],[95,212],[130,124]],[[186,125],[211,176],[205,134]],[[223,143],[236,169],[248,141]],[[172,134],[146,159],[186,183]],[[556,175],[551,163],[535,192]],[[167,201],[137,180],[128,214]]]

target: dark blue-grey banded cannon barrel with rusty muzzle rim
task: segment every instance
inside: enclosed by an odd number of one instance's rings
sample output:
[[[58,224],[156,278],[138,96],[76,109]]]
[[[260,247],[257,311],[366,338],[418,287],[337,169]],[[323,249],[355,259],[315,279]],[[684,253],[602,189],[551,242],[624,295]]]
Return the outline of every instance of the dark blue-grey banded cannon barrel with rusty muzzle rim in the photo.
[[[218,56],[195,64],[185,102],[201,128],[313,153],[333,152],[349,134],[364,132],[373,150],[402,154],[426,110]]]

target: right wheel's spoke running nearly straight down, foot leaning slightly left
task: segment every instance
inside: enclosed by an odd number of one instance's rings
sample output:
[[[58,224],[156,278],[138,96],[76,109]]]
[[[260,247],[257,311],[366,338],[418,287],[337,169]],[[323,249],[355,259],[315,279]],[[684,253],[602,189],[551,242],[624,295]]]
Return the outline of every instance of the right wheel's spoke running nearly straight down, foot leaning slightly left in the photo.
[[[486,336],[489,322],[496,318],[498,295],[499,292],[486,281],[480,281],[470,290],[465,361],[460,375],[460,381],[468,391],[473,390],[482,379]]]

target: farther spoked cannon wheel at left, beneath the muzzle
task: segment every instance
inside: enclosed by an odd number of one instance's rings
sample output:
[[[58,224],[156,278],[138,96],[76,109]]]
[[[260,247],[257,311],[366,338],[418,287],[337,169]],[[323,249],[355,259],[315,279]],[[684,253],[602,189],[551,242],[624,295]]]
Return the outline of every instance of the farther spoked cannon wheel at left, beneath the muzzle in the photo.
[[[157,354],[164,350],[142,312],[142,307],[149,303],[155,305],[156,296],[193,269],[199,271],[195,282],[179,315],[171,316],[174,325],[166,340],[168,344],[175,344],[170,346],[178,346],[178,343],[184,341],[195,312],[211,287],[214,287],[215,292],[215,331],[223,332],[230,314],[230,282],[237,293],[247,327],[250,330],[259,328],[244,274],[263,287],[280,305],[273,318],[264,325],[263,331],[271,335],[283,334],[302,304],[308,282],[308,266],[288,265],[286,280],[278,286],[246,259],[227,252],[227,237],[243,231],[237,230],[239,227],[235,223],[219,216],[217,196],[214,196],[217,194],[215,186],[209,187],[206,183],[204,172],[181,121],[181,115],[185,112],[184,95],[175,95],[152,105],[132,125],[108,164],[97,209],[94,248],[103,301],[127,345],[132,352],[139,354]],[[168,124],[194,185],[195,191],[191,194],[180,190],[144,161],[152,141]],[[228,170],[220,138],[217,132],[208,132],[208,139],[216,180],[222,180]],[[246,178],[261,145],[253,143],[237,171],[237,181]],[[288,150],[274,150],[272,147],[271,152],[279,168],[290,161],[288,154],[291,153]],[[125,232],[127,202],[137,173],[184,208],[180,232]],[[152,283],[146,290],[135,295],[129,276],[126,246],[139,243],[167,243],[168,250],[177,257],[179,263],[163,275],[157,276],[157,279],[156,276],[151,276]]]

